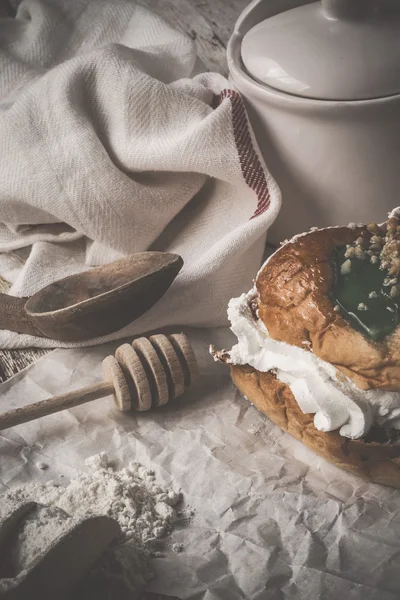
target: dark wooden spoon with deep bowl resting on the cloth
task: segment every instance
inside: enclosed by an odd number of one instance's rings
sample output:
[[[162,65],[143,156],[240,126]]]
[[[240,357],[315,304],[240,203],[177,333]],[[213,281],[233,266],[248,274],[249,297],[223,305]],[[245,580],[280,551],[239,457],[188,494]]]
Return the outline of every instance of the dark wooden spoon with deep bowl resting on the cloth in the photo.
[[[60,279],[30,298],[0,294],[0,329],[64,342],[106,335],[149,310],[182,265],[177,254],[140,252]]]

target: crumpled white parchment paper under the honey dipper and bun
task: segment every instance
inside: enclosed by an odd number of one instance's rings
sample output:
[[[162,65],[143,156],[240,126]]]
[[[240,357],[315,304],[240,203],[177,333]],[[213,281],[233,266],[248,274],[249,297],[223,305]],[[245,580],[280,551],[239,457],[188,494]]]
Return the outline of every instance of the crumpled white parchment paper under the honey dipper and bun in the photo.
[[[151,465],[194,510],[165,557],[153,559],[149,591],[191,600],[398,600],[400,492],[329,465],[242,398],[208,354],[210,342],[232,345],[228,330],[186,333],[201,377],[184,396],[129,415],[107,398],[0,432],[0,493],[32,479],[63,484],[105,450],[119,465]],[[115,347],[52,352],[0,386],[1,411],[90,385]]]

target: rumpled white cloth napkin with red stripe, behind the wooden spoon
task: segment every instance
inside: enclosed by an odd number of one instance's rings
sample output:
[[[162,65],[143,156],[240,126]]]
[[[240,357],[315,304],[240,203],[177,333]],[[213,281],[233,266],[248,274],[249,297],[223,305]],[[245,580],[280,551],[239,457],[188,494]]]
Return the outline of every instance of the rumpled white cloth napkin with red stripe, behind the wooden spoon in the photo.
[[[145,250],[180,254],[124,330],[226,324],[260,264],[279,190],[242,99],[190,77],[192,40],[130,0],[23,0],[0,19],[0,274],[10,293]],[[0,346],[71,346],[0,331]]]

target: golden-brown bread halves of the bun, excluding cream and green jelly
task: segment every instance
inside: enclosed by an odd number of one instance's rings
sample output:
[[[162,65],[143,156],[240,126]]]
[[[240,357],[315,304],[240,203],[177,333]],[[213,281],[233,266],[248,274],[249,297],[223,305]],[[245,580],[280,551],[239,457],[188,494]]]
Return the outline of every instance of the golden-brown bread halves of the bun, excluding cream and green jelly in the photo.
[[[366,227],[331,227],[283,244],[257,276],[251,310],[270,338],[313,352],[336,367],[339,380],[346,376],[361,390],[398,392],[400,327],[373,341],[334,309],[330,297],[334,250],[353,244],[360,235],[371,237]],[[229,353],[219,359],[229,363]],[[290,387],[274,372],[234,364],[231,375],[250,402],[317,454],[375,483],[400,488],[400,430],[374,424],[360,439],[346,438],[338,430],[319,431],[314,415],[302,412]]]

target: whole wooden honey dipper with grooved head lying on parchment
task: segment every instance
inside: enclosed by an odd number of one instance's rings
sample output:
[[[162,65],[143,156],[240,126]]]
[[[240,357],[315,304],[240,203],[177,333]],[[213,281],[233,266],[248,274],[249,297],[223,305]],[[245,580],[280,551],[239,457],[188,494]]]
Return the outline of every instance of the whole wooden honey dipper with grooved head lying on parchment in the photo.
[[[104,381],[0,415],[0,430],[113,395],[118,410],[144,411],[177,398],[198,376],[198,365],[183,334],[152,335],[117,348],[102,363]]]

